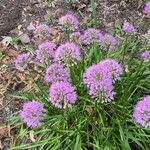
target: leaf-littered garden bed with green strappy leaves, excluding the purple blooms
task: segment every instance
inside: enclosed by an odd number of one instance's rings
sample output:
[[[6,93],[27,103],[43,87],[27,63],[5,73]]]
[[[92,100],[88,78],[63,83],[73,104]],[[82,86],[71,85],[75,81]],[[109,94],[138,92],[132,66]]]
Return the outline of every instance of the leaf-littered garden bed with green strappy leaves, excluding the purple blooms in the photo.
[[[25,149],[26,147],[29,149],[35,146],[41,149],[66,148],[66,150],[68,144],[70,145],[68,145],[68,149],[81,149],[81,147],[83,149],[148,148],[149,130],[136,125],[132,117],[134,105],[150,92],[148,85],[149,69],[148,67],[145,68],[148,64],[144,61],[141,65],[141,53],[144,50],[149,50],[148,41],[145,38],[143,40],[144,34],[149,29],[149,18],[143,13],[145,1],[116,0],[108,2],[107,0],[100,0],[97,3],[91,3],[88,0],[81,0],[80,2],[26,0],[23,2],[15,1],[13,4],[11,2],[2,1],[0,4],[0,12],[2,12],[0,35],[6,36],[0,46],[0,141],[2,143],[0,146],[5,148],[10,145],[18,146],[16,149]],[[71,38],[68,37],[71,31],[58,24],[59,18],[66,14],[77,16],[80,24],[78,29],[75,28],[75,31],[79,31],[81,34],[88,28],[96,28],[103,35],[105,33],[111,34],[117,39],[117,41],[113,40],[113,47],[110,48],[113,51],[108,52],[108,54],[105,53],[109,49],[109,46],[105,45],[106,43],[103,43],[101,47],[99,44],[92,43],[92,45],[90,43],[91,45],[89,45],[86,43],[87,41],[78,43],[78,40],[72,39],[81,49],[81,60],[84,56],[86,62],[75,63],[75,67],[67,66],[67,68],[70,67],[71,83],[78,94],[78,100],[69,112],[55,108],[54,106],[58,105],[53,106],[53,103],[51,104],[48,100],[49,83],[43,78],[45,76],[44,67],[47,67],[47,64],[42,67],[39,62],[34,62],[29,68],[31,71],[29,75],[17,70],[14,63],[15,58],[21,53],[30,53],[33,58],[37,57],[36,49],[41,44],[41,40],[37,40],[35,29],[39,24],[52,27],[52,34],[46,40],[55,43],[55,51],[61,44],[70,41]],[[9,24],[8,20],[10,20]],[[134,34],[126,34],[127,31],[123,31],[122,25],[125,22],[133,24],[136,31]],[[4,26],[3,23],[6,25]],[[53,46],[51,45],[51,47]],[[95,49],[99,49],[101,53]],[[100,102],[93,103],[93,99],[88,94],[87,87],[89,85],[86,87],[86,84],[89,83],[83,82],[82,75],[90,66],[109,57],[122,65],[123,74],[121,80],[113,85],[117,93],[115,99],[102,106],[103,104]],[[127,90],[128,87],[129,90]],[[25,124],[22,126],[21,120],[18,118],[23,103],[32,99],[44,104],[48,111],[47,123],[45,121],[41,128],[35,130],[26,128]],[[111,100],[107,99],[106,101]],[[100,105],[101,107],[98,108]],[[125,115],[124,113],[127,111],[129,112]],[[10,118],[10,116],[12,117]],[[62,125],[60,122],[63,122]],[[3,131],[5,130],[7,134],[4,134]],[[43,132],[41,137],[40,132]],[[46,132],[51,132],[51,134],[47,135]],[[86,135],[84,132],[87,132]],[[102,139],[99,139],[99,134]],[[105,134],[108,137],[105,137]],[[50,137],[54,139],[52,144],[49,142],[52,139],[46,141]],[[105,138],[108,138],[109,141],[104,140]],[[98,143],[102,141],[105,144]]]

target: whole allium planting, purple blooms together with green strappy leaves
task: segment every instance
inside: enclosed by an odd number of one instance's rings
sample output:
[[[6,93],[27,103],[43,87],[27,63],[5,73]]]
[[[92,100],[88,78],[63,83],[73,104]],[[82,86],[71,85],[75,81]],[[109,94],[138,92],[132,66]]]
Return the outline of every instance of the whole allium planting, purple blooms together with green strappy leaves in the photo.
[[[60,18],[67,37],[60,46],[44,43],[52,30],[40,25],[33,38],[38,50],[16,59],[34,84],[14,95],[28,102],[9,119],[19,129],[12,150],[149,150],[149,33],[141,37],[125,23],[113,36],[95,28],[72,34],[78,25],[75,16]]]

